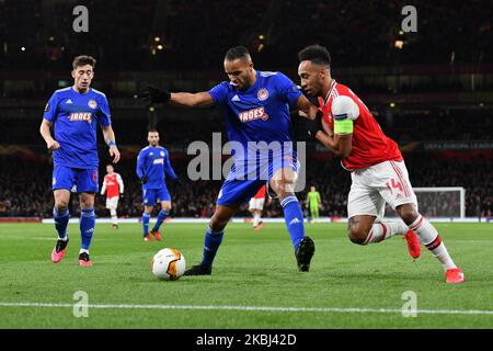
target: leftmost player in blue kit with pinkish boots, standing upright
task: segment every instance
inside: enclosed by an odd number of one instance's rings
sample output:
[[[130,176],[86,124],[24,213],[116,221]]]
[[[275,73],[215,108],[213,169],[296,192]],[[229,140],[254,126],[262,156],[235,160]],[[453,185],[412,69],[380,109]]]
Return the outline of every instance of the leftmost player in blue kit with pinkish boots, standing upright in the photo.
[[[54,219],[58,240],[51,252],[51,261],[58,263],[69,242],[67,225],[70,190],[77,189],[81,207],[81,248],[79,265],[91,267],[89,247],[94,235],[94,197],[98,192],[98,138],[101,125],[104,140],[110,147],[113,162],[119,160],[119,151],[112,128],[106,95],[92,89],[95,59],[77,56],[72,63],[73,86],[59,89],[49,99],[43,115],[39,133],[53,151]],[[55,137],[50,127],[55,126]]]

